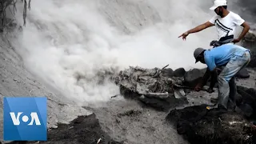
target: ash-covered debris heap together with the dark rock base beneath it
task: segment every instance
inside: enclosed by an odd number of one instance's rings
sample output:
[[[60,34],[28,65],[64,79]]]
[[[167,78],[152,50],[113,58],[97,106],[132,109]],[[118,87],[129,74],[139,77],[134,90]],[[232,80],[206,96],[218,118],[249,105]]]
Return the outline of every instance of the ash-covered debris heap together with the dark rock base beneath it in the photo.
[[[120,71],[114,82],[120,86],[125,98],[138,99],[156,110],[169,110],[187,103],[184,91],[174,88],[181,86],[184,78],[175,74],[178,71],[130,66],[130,69]]]

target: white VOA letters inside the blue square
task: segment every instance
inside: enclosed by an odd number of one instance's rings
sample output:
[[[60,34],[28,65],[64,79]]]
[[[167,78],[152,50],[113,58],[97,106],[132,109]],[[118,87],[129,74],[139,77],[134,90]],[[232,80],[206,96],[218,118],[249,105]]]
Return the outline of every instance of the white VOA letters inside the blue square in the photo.
[[[15,114],[14,112],[10,112],[10,118],[12,119],[15,126],[20,125],[20,118],[23,112],[18,112],[18,114]],[[41,126],[41,122],[39,121],[38,114],[36,112],[31,112],[30,115],[23,115],[22,116],[22,122],[28,122],[30,120],[30,123],[28,125],[39,125]]]

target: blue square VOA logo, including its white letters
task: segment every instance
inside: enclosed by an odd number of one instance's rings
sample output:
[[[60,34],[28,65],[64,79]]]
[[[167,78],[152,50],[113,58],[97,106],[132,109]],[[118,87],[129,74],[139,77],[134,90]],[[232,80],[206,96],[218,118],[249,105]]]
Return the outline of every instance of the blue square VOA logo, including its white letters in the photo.
[[[3,101],[5,141],[47,140],[46,97],[6,97]]]

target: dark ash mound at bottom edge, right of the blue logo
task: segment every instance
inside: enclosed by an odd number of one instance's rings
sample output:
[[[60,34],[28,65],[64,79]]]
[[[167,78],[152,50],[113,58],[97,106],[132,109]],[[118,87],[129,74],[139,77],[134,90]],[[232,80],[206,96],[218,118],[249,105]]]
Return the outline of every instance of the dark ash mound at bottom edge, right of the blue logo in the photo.
[[[10,142],[11,144],[35,143],[35,142]],[[88,143],[88,144],[121,144],[113,141],[109,135],[103,132],[95,114],[79,116],[69,125],[58,124],[58,129],[48,132],[47,142],[39,143]]]

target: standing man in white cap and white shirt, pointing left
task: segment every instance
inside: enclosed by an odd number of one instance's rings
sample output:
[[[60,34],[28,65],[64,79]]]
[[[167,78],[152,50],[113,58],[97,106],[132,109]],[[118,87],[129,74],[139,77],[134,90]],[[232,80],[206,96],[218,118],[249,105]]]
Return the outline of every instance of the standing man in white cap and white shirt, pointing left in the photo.
[[[210,19],[210,21],[203,23],[202,25],[194,27],[194,29],[188,30],[178,38],[182,37],[186,40],[189,34],[197,33],[201,30],[205,30],[208,27],[215,26],[218,32],[218,41],[226,41],[232,39],[231,42],[237,43],[244,38],[246,33],[250,30],[250,26],[242,19],[238,14],[227,10],[226,0],[215,0],[214,6],[210,7],[210,10],[214,10],[217,15]],[[238,38],[234,38],[234,32],[236,26],[243,26],[242,33]]]

